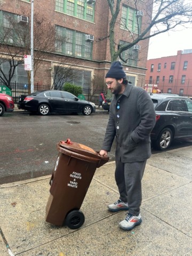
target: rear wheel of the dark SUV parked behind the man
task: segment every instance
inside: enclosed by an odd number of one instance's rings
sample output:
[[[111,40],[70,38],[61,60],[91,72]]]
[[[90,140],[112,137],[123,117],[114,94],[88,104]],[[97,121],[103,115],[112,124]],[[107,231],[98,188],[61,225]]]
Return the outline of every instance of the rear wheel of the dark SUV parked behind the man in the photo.
[[[153,144],[156,149],[165,150],[170,147],[172,139],[173,133],[171,129],[165,128],[159,133],[157,140]]]

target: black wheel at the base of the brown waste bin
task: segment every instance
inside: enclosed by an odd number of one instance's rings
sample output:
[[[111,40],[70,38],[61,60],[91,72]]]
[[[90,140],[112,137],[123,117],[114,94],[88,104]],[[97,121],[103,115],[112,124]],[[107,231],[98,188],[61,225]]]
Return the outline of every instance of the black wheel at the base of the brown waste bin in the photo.
[[[65,225],[70,229],[80,228],[85,221],[85,216],[82,211],[74,210],[67,214]]]

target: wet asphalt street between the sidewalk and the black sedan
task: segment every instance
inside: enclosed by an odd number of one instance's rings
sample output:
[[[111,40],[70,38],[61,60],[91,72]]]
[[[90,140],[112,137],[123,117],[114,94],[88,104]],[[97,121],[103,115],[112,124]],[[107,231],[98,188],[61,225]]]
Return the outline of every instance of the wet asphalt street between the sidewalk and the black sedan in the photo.
[[[51,174],[58,154],[56,144],[60,140],[70,138],[99,151],[107,122],[108,112],[90,116],[5,113],[0,122],[0,184]],[[190,145],[192,140],[177,140],[169,150]],[[114,161],[115,143],[109,157]]]

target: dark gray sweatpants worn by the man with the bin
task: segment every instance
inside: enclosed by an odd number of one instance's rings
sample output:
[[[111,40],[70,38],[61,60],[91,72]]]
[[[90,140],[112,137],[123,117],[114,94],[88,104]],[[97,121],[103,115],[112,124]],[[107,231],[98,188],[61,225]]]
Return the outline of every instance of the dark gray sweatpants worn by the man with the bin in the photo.
[[[119,190],[120,199],[128,203],[129,213],[139,215],[142,201],[141,180],[146,161],[122,163],[116,161],[115,180]]]

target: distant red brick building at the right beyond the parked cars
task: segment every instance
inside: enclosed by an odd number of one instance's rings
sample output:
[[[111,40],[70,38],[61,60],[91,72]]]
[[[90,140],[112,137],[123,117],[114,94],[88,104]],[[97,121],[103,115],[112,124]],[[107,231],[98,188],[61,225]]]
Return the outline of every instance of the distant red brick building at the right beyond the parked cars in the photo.
[[[145,84],[157,84],[164,93],[192,95],[192,49],[147,60]]]

